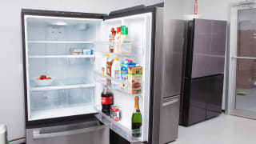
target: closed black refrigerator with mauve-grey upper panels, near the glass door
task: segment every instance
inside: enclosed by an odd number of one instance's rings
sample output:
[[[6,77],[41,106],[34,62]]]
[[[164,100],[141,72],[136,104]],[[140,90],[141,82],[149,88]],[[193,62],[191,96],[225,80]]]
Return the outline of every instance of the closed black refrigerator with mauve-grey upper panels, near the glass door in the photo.
[[[187,23],[179,123],[190,126],[222,113],[226,22]]]

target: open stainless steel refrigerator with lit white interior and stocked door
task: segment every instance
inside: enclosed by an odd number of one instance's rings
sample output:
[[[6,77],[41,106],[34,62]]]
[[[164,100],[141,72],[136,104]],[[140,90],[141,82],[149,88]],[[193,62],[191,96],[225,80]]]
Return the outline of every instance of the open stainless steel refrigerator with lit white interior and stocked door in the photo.
[[[162,56],[162,11],[154,6],[135,6],[110,14],[22,10],[26,142],[159,141],[158,114],[162,110],[162,98],[158,83],[162,82],[159,79],[162,69],[158,68],[165,57]],[[119,85],[128,82],[102,74],[102,59],[109,54],[111,44],[110,30],[117,26],[129,28],[132,52],[111,55],[121,62],[130,58],[142,66],[141,94],[127,93]],[[114,105],[121,111],[118,122],[102,113],[101,93],[108,80],[118,84],[110,86]],[[165,111],[177,111],[167,114],[175,124],[174,136],[169,137],[168,133],[167,141],[177,138],[178,94],[165,100]],[[142,113],[142,134],[138,138],[131,134],[135,96],[139,97]]]

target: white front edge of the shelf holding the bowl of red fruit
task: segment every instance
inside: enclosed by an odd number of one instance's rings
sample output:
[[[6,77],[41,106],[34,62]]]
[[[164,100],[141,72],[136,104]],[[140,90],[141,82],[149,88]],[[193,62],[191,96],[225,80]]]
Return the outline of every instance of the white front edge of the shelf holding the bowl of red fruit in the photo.
[[[95,87],[94,83],[81,84],[81,85],[70,85],[70,86],[42,86],[42,87],[31,87],[30,91],[40,91],[40,90],[63,90],[63,89],[78,89],[86,87]]]

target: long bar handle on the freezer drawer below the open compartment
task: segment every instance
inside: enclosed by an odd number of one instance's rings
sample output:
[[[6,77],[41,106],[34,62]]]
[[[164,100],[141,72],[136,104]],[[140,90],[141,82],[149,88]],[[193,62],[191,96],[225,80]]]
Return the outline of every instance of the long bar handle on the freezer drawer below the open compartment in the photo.
[[[102,130],[106,128],[105,125],[101,126],[92,126],[92,127],[86,127],[84,129],[78,129],[78,130],[68,130],[68,131],[62,131],[58,133],[48,133],[48,134],[40,134],[37,130],[34,131],[34,139],[40,139],[40,138],[53,138],[53,137],[60,137],[60,136],[66,136],[66,135],[72,135],[72,134],[83,134],[90,131],[96,131],[96,130]]]

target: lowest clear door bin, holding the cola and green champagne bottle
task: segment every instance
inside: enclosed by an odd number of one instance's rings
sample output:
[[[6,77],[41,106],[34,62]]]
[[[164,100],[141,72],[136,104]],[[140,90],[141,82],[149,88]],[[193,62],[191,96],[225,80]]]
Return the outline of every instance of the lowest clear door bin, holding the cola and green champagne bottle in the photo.
[[[112,118],[103,114],[102,111],[98,110],[98,114],[95,114],[95,117],[98,118],[99,121],[104,123],[106,126],[110,126],[110,129],[113,130],[115,133],[122,136],[129,142],[142,142],[142,138],[135,138],[131,134],[131,130],[122,126],[120,123],[115,122]]]

